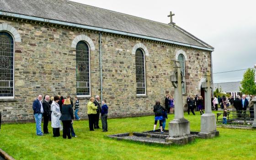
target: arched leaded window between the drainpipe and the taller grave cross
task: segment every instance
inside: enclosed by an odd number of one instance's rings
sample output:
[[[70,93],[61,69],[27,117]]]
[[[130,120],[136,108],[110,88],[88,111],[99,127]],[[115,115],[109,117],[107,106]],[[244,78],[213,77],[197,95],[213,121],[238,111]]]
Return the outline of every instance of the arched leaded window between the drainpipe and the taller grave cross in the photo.
[[[137,95],[146,95],[145,59],[144,59],[143,51],[139,48],[136,50],[136,53],[135,53],[135,65],[136,65]]]

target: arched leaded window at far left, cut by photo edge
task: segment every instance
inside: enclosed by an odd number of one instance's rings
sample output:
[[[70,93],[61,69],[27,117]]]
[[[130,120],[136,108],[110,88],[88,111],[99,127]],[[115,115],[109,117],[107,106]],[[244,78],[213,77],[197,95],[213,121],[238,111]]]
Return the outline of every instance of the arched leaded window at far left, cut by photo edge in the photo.
[[[0,32],[0,97],[14,98],[13,38]]]

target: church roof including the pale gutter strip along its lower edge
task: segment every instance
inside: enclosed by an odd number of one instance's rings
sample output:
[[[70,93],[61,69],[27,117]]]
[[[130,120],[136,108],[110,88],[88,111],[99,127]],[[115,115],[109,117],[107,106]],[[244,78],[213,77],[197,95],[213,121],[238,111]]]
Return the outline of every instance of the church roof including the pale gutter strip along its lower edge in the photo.
[[[0,3],[3,4],[0,6],[0,15],[140,37],[208,51],[214,50],[212,46],[204,43],[202,40],[177,25],[174,27],[165,23],[68,0],[42,1],[37,3],[30,0],[0,0]],[[48,7],[52,3],[56,4],[56,2],[61,4],[58,5],[57,3],[54,9]],[[63,7],[66,7],[67,11],[63,11]],[[74,9],[74,7],[78,8],[77,13],[70,13],[69,11]],[[47,9],[45,11],[42,8]],[[86,19],[84,17],[86,17]]]

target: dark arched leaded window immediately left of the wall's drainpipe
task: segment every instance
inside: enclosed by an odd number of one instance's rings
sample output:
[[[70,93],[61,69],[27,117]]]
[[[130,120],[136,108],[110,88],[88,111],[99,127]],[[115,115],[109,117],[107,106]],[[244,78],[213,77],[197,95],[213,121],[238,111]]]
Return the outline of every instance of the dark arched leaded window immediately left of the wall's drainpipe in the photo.
[[[88,45],[80,41],[76,45],[76,94],[90,96],[90,54]]]

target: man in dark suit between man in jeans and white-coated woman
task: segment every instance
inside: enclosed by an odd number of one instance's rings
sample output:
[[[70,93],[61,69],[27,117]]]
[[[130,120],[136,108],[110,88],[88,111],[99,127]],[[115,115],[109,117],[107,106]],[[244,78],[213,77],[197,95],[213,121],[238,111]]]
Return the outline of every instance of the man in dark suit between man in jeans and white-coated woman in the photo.
[[[48,122],[51,116],[50,96],[45,96],[43,100],[43,133],[48,134]]]

